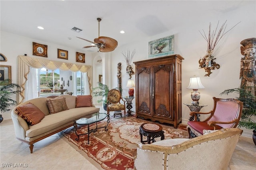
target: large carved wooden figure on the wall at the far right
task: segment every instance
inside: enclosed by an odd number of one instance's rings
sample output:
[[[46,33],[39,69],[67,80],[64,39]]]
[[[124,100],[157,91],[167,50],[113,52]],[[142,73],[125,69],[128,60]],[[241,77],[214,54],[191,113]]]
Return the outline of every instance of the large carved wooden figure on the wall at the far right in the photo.
[[[244,39],[240,43],[240,88],[250,91],[256,96],[256,38]]]

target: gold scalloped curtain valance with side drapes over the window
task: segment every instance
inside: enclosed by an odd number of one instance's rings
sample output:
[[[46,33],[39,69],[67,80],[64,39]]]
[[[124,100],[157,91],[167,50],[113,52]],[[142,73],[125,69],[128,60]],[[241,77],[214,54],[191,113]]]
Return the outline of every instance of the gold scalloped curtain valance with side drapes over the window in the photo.
[[[29,67],[33,68],[47,68],[49,70],[55,70],[59,68],[60,70],[71,70],[73,72],[87,72],[90,94],[92,94],[92,66],[74,63],[65,63],[61,61],[54,61],[48,59],[39,59],[28,56],[18,56],[18,84],[20,85],[20,94],[18,96],[18,103],[22,103],[25,94],[25,84],[28,80],[27,75],[29,73]]]

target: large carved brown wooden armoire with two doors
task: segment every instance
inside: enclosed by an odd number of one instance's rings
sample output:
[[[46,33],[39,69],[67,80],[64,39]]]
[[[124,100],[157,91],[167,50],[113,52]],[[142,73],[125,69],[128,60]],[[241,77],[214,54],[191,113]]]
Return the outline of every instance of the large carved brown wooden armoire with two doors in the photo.
[[[136,61],[136,117],[178,127],[181,116],[180,55]]]

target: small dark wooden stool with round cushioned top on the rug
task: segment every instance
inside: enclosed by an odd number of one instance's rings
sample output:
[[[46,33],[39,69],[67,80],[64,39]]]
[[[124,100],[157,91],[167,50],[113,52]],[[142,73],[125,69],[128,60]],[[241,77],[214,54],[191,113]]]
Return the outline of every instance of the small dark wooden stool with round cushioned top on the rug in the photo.
[[[145,144],[144,142],[156,142],[154,138],[161,137],[161,140],[164,140],[164,131],[162,131],[163,127],[161,125],[155,123],[143,123],[140,126],[140,142]],[[147,137],[146,141],[142,141],[142,135]],[[151,139],[152,138],[152,139]]]

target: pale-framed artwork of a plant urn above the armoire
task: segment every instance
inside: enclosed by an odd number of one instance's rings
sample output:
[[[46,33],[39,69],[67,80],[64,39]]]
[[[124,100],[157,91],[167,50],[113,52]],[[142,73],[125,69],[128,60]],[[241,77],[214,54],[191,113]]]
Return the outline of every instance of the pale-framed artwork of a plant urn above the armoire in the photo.
[[[148,42],[148,58],[174,54],[174,35]]]

